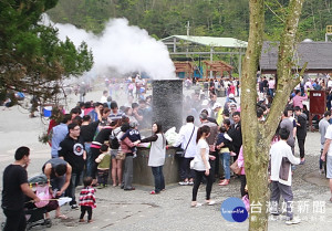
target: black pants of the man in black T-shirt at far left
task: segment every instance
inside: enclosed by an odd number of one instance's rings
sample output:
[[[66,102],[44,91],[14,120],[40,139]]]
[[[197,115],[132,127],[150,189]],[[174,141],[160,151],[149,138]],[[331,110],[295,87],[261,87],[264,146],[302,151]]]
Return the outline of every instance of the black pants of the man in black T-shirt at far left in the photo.
[[[25,214],[23,210],[3,209],[7,217],[4,231],[24,231],[27,227]]]

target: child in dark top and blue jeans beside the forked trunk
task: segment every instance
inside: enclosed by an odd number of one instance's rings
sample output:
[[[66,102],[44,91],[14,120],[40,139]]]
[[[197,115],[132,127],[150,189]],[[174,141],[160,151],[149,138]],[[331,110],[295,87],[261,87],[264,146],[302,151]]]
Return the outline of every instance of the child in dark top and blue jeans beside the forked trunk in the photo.
[[[230,179],[230,168],[229,168],[229,160],[230,160],[230,143],[232,139],[226,133],[226,127],[220,127],[220,134],[217,137],[216,146],[220,149],[220,159],[222,160],[225,179],[219,182],[219,186],[227,186]]]

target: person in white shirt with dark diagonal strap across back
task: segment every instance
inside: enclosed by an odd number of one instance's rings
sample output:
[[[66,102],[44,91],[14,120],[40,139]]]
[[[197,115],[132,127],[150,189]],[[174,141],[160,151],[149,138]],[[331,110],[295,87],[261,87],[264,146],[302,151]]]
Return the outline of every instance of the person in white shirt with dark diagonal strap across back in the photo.
[[[180,181],[178,182],[180,186],[194,185],[194,170],[190,169],[190,161],[196,155],[197,127],[194,125],[194,116],[188,116],[186,120],[187,124],[179,130],[179,138],[173,145],[174,147],[180,145],[185,150],[185,156],[180,158]]]

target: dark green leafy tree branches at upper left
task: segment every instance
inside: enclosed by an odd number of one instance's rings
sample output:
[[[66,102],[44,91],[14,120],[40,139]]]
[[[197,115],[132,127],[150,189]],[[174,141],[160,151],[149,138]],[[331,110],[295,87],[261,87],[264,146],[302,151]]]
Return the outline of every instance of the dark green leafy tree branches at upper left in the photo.
[[[0,92],[27,92],[40,101],[52,101],[61,83],[81,75],[93,64],[85,43],[79,48],[58,39],[58,31],[39,23],[41,14],[58,0],[0,1]],[[11,94],[14,103],[15,98]]]

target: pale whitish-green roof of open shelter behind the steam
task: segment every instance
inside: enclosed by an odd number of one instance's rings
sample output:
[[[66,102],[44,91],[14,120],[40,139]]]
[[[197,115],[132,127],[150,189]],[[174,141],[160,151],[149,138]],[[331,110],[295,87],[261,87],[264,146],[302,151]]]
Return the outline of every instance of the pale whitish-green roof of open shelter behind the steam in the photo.
[[[174,39],[185,40],[199,45],[207,45],[214,48],[247,48],[248,42],[234,39],[234,38],[217,38],[217,36],[187,36],[187,35],[172,35],[160,41],[165,44],[173,44]]]

